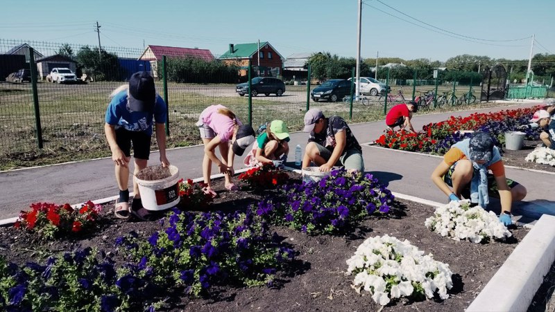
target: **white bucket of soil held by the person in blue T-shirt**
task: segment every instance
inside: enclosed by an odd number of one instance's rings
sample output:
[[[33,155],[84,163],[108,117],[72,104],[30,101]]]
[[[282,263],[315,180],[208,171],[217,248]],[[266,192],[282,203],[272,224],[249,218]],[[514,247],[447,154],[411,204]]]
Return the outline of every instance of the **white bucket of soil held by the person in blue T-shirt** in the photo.
[[[160,178],[160,176],[167,176]],[[154,178],[154,179],[153,179]],[[146,167],[133,178],[146,210],[166,210],[179,203],[179,169],[174,165]]]

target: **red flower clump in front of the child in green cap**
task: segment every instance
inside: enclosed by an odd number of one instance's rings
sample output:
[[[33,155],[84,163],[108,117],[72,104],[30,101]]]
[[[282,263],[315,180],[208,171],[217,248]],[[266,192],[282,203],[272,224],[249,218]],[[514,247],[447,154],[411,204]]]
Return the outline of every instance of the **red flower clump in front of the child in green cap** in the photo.
[[[248,169],[239,174],[239,180],[255,190],[268,190],[287,183],[289,176],[270,163]]]

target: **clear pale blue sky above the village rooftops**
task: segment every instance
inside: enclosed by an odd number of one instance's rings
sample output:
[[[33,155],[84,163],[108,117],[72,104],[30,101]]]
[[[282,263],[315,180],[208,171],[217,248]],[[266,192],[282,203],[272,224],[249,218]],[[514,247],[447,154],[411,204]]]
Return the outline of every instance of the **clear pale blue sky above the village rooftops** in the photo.
[[[0,39],[142,48],[270,42],[283,56],[357,55],[357,0],[4,1]],[[528,7],[525,5],[529,5]],[[361,56],[445,61],[456,55],[555,54],[555,1],[365,0]],[[524,39],[525,38],[525,39]],[[512,40],[512,41],[509,41]],[[2,47],[3,48],[3,47]],[[2,49],[3,50],[3,49]]]

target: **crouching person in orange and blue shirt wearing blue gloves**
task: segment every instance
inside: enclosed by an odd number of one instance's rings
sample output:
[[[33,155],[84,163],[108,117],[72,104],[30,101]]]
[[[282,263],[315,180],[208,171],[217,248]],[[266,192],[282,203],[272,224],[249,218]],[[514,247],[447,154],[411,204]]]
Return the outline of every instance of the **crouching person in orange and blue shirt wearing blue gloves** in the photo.
[[[488,170],[493,174],[489,174]],[[443,161],[434,169],[432,181],[449,196],[450,201],[459,201],[462,195],[486,208],[488,195],[498,195],[502,211],[499,221],[505,226],[512,223],[512,202],[521,201],[527,193],[524,186],[505,177],[499,149],[493,145],[493,138],[485,132],[476,132],[472,138],[452,145],[443,156]]]

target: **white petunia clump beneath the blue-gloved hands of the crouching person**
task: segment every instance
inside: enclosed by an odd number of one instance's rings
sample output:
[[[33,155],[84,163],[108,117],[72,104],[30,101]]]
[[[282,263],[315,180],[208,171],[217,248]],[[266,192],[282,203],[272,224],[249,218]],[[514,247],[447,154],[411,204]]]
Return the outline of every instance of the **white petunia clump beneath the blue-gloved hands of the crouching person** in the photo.
[[[503,239],[511,237],[511,232],[499,221],[494,212],[486,212],[484,208],[470,208],[470,201],[452,201],[436,208],[434,216],[425,221],[426,228],[459,241],[468,239],[479,243],[482,239]]]

